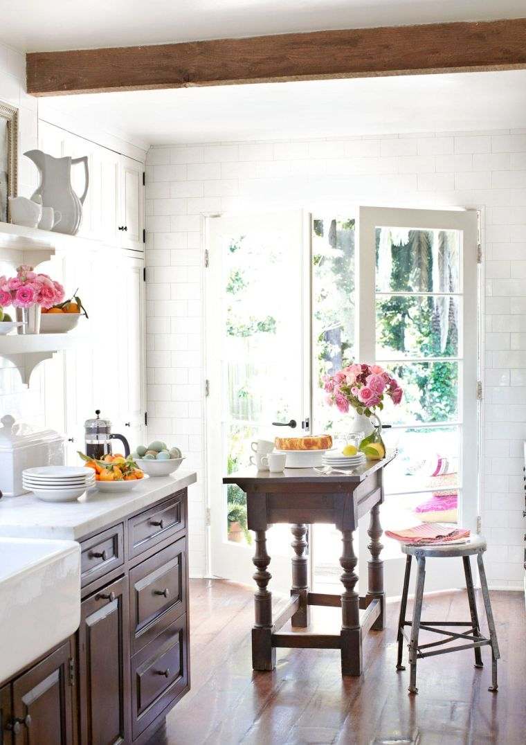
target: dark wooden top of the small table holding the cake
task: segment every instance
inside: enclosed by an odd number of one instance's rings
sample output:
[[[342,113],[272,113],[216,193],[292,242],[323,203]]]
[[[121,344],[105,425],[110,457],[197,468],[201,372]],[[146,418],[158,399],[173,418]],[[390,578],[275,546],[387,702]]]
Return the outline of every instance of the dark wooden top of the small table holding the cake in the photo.
[[[228,476],[223,477],[224,484],[308,484],[321,483],[326,481],[327,484],[360,484],[368,476],[372,475],[378,469],[387,466],[393,458],[396,457],[396,450],[387,451],[387,454],[381,460],[368,460],[363,466],[358,466],[349,472],[349,475],[339,473],[330,476],[318,473],[313,468],[286,468],[282,473],[270,473],[270,471],[258,471],[255,466],[236,471]]]

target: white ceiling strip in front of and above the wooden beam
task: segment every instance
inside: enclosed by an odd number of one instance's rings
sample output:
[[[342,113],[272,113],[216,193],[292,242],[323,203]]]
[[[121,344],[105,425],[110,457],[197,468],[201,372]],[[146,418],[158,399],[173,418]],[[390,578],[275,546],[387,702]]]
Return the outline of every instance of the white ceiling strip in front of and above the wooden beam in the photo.
[[[525,0],[2,0],[0,42],[44,51],[525,15]]]

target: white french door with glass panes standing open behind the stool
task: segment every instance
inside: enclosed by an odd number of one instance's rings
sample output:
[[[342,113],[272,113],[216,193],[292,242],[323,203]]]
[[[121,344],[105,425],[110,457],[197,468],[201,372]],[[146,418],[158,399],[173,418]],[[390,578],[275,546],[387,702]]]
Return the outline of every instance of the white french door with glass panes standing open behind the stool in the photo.
[[[398,378],[402,404],[381,414],[398,447],[384,472],[384,530],[439,516],[476,531],[478,514],[478,215],[358,210],[356,350]],[[367,524],[359,576],[367,577]],[[405,557],[384,536],[387,596],[400,595]],[[445,564],[442,566],[442,564]],[[440,564],[440,565],[439,565]],[[426,591],[463,586],[460,562],[430,562]]]

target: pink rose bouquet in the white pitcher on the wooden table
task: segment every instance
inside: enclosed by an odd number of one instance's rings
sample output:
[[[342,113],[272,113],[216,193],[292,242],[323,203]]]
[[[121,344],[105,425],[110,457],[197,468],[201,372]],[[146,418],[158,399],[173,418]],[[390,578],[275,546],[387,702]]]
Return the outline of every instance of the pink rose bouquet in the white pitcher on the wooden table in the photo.
[[[393,404],[402,401],[402,387],[379,365],[352,364],[334,375],[325,375],[323,387],[327,403],[342,413],[354,408],[359,414],[371,416],[384,408],[389,396]]]

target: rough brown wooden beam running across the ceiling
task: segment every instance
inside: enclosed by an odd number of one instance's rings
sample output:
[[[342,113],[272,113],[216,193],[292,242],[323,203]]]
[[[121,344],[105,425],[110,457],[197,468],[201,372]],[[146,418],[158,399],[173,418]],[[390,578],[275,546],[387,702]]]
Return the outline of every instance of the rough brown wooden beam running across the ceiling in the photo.
[[[526,18],[27,55],[33,95],[522,68]]]

